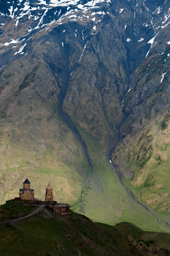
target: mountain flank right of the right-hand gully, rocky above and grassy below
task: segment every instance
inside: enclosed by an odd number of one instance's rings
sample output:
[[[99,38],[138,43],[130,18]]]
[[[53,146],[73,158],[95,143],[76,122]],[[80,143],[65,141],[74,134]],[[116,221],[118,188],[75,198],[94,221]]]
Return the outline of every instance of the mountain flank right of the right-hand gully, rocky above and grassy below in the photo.
[[[122,102],[126,118],[120,125],[120,142],[112,161],[118,163],[134,194],[167,215],[170,9],[165,6],[154,11],[148,4],[149,11],[157,14],[151,20],[154,37],[148,41],[151,47],[146,58],[130,76],[130,90]]]

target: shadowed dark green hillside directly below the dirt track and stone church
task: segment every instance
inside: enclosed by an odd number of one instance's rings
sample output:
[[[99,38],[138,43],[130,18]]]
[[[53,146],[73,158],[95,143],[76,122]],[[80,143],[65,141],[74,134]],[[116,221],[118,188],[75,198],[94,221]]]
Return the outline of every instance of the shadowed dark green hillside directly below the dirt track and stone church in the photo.
[[[114,227],[108,231],[83,215],[61,216],[47,209],[22,221],[0,224],[0,254],[143,255]]]

